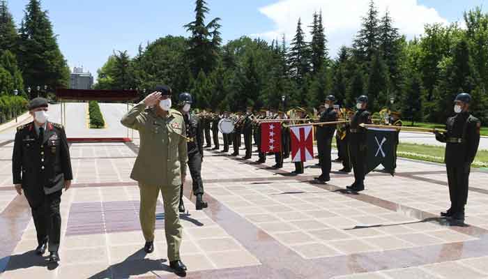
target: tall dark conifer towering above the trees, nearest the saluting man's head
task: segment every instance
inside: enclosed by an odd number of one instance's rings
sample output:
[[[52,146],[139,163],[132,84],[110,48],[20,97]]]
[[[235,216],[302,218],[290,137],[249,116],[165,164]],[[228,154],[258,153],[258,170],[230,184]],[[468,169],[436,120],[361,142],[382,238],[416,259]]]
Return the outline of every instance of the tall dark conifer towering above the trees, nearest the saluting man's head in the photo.
[[[208,75],[218,65],[218,54],[222,38],[220,37],[220,17],[215,17],[205,24],[209,12],[204,0],[195,1],[195,21],[185,24],[187,31],[192,33],[189,42],[188,59],[194,76],[200,70]]]

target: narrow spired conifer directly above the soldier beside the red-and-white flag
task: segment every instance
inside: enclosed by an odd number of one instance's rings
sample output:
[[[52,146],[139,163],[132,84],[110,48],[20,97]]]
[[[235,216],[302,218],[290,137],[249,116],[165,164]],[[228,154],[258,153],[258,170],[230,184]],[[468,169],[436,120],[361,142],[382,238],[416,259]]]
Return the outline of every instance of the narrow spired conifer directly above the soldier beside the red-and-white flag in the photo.
[[[323,70],[323,63],[326,61],[326,35],[323,29],[322,13],[314,13],[314,20],[311,26],[312,42],[310,43],[310,63],[312,73],[317,74]]]

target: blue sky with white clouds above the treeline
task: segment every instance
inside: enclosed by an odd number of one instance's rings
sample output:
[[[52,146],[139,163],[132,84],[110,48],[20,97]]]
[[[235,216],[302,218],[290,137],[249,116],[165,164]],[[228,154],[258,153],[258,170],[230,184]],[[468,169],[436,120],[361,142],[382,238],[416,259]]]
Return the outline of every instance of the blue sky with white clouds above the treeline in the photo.
[[[9,0],[17,27],[28,0]],[[224,42],[243,35],[271,40],[281,33],[291,37],[298,17],[305,24],[314,10],[322,10],[328,31],[330,55],[349,45],[364,15],[367,0],[207,0],[208,18],[222,18]],[[399,29],[411,37],[431,22],[454,22],[464,10],[488,0],[376,0],[379,10],[388,8]],[[183,24],[193,20],[193,0],[43,0],[43,9],[58,34],[61,51],[70,67],[84,66],[96,73],[114,50],[131,55],[139,43],[167,34],[188,36]]]

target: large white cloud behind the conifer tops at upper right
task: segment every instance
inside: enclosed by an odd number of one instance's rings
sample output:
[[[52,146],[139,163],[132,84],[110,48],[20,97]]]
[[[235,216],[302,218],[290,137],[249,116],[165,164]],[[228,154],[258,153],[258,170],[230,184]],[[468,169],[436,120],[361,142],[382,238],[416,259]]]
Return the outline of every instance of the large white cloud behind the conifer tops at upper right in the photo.
[[[448,23],[434,8],[417,3],[417,0],[376,0],[379,17],[388,9],[394,25],[408,38],[420,35],[424,25],[434,22]],[[326,28],[330,55],[335,56],[341,45],[351,45],[360,29],[361,18],[367,14],[367,0],[280,0],[277,3],[259,8],[259,11],[275,22],[275,27],[263,33],[252,34],[266,39],[281,38],[284,33],[287,41],[296,32],[298,17],[307,36],[312,22],[312,14],[322,11],[323,24]]]

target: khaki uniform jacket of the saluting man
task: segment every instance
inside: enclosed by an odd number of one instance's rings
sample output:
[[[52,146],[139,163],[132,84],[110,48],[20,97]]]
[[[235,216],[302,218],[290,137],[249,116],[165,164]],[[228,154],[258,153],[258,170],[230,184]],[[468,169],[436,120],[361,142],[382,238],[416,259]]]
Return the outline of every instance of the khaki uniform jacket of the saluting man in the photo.
[[[188,161],[183,115],[170,110],[164,118],[141,102],[123,116],[121,123],[138,130],[141,138],[130,178],[151,186],[181,185]]]

